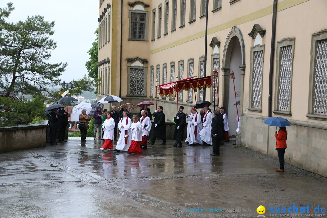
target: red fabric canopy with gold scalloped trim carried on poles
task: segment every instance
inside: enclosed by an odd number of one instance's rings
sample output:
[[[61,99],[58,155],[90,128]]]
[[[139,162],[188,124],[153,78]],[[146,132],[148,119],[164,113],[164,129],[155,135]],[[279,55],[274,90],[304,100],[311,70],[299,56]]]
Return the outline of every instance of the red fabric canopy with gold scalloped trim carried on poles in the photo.
[[[212,84],[212,76],[206,76],[201,78],[186,78],[176,82],[166,83],[159,86],[159,95],[160,96],[169,96],[174,95],[174,93],[181,92],[182,90],[189,89],[203,89],[209,88]]]

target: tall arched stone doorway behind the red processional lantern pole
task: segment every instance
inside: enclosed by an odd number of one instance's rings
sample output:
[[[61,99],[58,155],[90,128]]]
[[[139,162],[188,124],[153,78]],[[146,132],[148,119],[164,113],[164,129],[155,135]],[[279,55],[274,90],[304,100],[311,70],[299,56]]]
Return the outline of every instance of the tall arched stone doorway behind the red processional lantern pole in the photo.
[[[245,48],[243,36],[239,28],[232,27],[228,34],[226,44],[224,47],[222,59],[222,72],[223,72],[223,93],[222,93],[222,106],[225,107],[228,115],[229,137],[236,137],[237,125],[237,110],[238,114],[242,113],[242,96],[244,86],[244,70],[245,70]],[[235,74],[235,92],[233,81],[230,78],[230,73]]]

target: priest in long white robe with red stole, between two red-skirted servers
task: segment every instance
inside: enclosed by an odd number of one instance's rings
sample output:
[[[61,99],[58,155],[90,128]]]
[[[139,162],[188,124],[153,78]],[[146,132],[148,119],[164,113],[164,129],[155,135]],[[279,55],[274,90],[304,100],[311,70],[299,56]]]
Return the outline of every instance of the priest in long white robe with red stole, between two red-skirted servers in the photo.
[[[118,122],[118,129],[119,129],[119,139],[116,145],[116,148],[113,149],[114,151],[128,151],[130,146],[131,138],[124,138],[125,135],[130,135],[130,126],[132,125],[132,121],[127,116],[128,112],[126,110],[123,111],[123,118],[121,118]]]

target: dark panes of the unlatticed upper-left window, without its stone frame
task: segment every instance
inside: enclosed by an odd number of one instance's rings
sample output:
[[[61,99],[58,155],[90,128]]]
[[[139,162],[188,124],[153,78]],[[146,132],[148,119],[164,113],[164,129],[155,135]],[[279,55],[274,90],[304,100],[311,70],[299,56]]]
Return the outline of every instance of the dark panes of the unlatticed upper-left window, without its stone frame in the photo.
[[[132,39],[145,39],[146,34],[146,14],[132,13]]]

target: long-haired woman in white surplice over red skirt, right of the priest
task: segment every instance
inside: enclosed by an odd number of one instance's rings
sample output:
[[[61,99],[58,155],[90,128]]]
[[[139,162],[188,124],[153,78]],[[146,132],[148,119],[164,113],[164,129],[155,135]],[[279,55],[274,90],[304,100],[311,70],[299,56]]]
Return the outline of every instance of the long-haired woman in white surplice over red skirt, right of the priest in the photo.
[[[130,126],[131,134],[131,142],[130,142],[130,147],[127,151],[128,154],[141,154],[142,149],[140,147],[140,143],[142,141],[142,126],[141,122],[139,122],[138,118],[136,115],[133,115],[132,117],[132,125]]]

